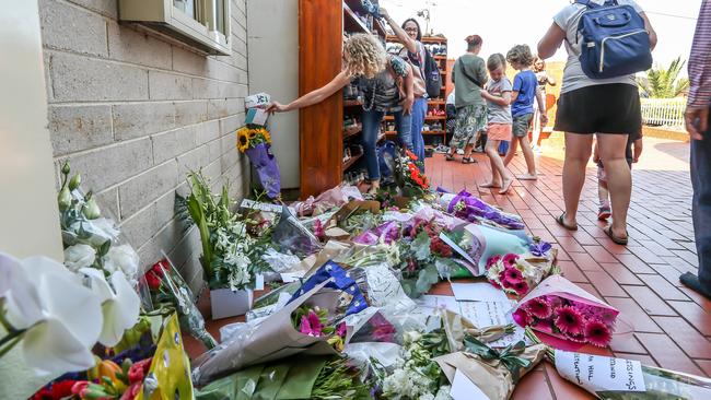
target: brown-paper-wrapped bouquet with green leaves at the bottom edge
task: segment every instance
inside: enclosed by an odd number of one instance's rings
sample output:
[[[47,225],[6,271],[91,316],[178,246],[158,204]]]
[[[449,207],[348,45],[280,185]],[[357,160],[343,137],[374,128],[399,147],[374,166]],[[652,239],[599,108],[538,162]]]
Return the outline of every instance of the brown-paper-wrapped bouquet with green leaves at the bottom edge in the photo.
[[[526,346],[523,341],[497,351],[474,338],[465,338],[465,350],[439,356],[440,365],[451,383],[463,373],[491,400],[506,400],[518,380],[543,360],[546,346]]]

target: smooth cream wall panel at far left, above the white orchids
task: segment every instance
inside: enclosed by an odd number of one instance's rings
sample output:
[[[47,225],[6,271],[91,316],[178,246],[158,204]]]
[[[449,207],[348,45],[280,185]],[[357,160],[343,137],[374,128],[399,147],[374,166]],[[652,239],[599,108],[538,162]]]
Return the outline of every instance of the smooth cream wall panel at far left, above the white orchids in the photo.
[[[0,8],[0,251],[62,260],[37,1]]]

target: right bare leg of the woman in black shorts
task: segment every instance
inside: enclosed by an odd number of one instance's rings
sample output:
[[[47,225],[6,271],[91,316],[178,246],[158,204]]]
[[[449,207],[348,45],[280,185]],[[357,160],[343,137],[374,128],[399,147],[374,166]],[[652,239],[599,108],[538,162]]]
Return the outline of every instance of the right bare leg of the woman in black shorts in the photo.
[[[627,211],[632,196],[632,174],[625,158],[627,134],[599,133],[597,138],[613,203],[613,234],[627,237]]]

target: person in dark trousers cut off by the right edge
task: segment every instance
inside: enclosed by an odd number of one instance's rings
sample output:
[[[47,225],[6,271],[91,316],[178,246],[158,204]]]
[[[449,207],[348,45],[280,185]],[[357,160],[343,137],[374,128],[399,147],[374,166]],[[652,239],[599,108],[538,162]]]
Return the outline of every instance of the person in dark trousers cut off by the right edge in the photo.
[[[689,101],[686,129],[691,136],[692,220],[699,273],[679,281],[711,298],[711,0],[703,0],[689,57]]]

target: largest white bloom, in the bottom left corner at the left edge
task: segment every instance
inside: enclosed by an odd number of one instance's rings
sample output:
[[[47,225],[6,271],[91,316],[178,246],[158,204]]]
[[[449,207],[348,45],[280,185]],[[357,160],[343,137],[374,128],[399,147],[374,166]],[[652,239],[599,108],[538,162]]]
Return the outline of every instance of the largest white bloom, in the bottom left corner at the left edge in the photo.
[[[102,330],[98,298],[63,264],[49,258],[18,260],[0,254],[0,264],[3,274],[13,278],[2,295],[4,317],[22,338],[26,364],[40,375],[93,366],[90,349]]]

